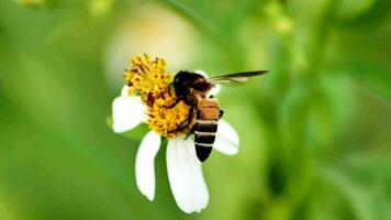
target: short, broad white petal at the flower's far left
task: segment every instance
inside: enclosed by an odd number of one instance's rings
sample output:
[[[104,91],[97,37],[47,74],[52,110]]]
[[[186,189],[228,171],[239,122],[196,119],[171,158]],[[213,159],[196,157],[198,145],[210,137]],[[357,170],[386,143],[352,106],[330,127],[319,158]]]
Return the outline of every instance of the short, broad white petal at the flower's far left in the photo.
[[[147,120],[146,106],[138,96],[116,97],[112,108],[113,130],[116,133],[134,129]]]

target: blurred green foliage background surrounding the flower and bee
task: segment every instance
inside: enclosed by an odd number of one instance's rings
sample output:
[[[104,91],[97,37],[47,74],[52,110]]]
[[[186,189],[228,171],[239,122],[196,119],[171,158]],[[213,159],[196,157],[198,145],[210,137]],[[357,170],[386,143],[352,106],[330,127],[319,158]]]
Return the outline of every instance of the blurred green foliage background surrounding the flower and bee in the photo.
[[[0,219],[387,219],[391,1],[1,0]],[[129,59],[270,74],[220,94],[242,138],[203,165],[185,215],[165,148],[136,188],[142,135],[107,124]]]

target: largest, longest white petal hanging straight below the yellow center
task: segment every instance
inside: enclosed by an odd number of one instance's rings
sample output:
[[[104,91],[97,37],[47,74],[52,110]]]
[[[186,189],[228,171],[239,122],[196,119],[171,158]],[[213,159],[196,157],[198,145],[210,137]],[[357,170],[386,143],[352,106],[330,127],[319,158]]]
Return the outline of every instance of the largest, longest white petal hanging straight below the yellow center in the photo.
[[[187,213],[200,212],[208,205],[209,193],[193,142],[168,141],[166,156],[168,179],[178,207]]]

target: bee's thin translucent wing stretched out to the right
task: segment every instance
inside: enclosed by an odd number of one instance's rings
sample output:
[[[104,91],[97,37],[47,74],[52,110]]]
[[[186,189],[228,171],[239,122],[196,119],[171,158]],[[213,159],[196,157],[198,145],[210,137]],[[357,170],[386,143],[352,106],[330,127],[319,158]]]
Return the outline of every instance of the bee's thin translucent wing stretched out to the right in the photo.
[[[222,76],[215,76],[208,78],[208,81],[212,84],[244,84],[248,80],[249,77],[259,76],[262,74],[268,73],[268,70],[257,70],[257,72],[243,72],[243,73],[235,73],[235,74],[227,74]]]

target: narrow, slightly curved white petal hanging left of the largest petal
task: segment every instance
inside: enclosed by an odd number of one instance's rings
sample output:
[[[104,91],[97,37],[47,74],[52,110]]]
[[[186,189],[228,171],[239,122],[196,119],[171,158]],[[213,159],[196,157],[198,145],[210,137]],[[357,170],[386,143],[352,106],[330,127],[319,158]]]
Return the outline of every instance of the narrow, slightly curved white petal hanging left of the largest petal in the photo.
[[[155,156],[160,147],[160,135],[149,131],[143,139],[136,155],[136,184],[149,200],[155,197]]]

